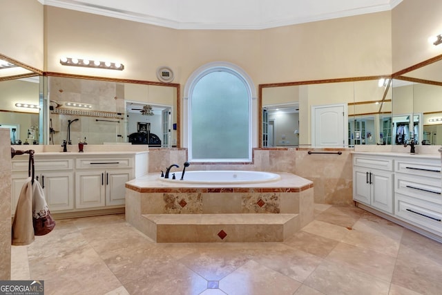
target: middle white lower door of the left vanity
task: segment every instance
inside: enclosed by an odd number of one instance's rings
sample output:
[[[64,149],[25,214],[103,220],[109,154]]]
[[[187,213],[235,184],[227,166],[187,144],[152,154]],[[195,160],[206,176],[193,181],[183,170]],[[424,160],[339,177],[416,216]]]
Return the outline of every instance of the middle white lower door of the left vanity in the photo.
[[[103,207],[105,201],[104,171],[84,170],[75,173],[75,207]]]

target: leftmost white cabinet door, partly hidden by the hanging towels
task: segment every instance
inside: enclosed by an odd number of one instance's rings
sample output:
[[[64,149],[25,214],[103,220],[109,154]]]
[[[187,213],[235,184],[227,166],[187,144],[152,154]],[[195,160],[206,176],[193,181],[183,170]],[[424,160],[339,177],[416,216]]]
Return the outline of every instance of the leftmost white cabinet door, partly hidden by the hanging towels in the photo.
[[[51,212],[74,208],[73,172],[45,171],[39,173],[39,182]]]

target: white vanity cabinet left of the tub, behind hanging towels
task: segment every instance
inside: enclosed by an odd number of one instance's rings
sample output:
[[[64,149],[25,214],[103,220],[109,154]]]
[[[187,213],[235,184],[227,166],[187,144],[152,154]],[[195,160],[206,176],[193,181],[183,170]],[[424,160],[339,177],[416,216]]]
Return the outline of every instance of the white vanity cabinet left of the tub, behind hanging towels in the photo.
[[[136,163],[136,164],[135,164]],[[148,153],[35,153],[35,178],[51,213],[119,210],[125,206],[126,182],[148,171]],[[12,213],[28,179],[28,156],[12,159]],[[83,213],[81,213],[83,214]]]

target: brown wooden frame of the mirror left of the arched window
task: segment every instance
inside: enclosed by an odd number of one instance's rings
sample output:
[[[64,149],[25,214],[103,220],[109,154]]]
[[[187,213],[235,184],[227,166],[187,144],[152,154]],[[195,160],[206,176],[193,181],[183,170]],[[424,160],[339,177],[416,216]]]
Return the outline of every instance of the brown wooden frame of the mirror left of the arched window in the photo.
[[[142,85],[154,85],[154,86],[168,86],[168,87],[175,87],[177,89],[177,143],[176,148],[181,148],[181,126],[180,126],[180,120],[181,120],[181,102],[180,102],[180,90],[181,85],[177,83],[166,83],[166,82],[153,82],[153,81],[144,81],[144,80],[133,80],[133,79],[115,79],[115,78],[108,78],[108,77],[97,77],[97,76],[86,76],[86,75],[72,75],[72,74],[64,74],[64,73],[56,73],[56,72],[44,72],[44,77],[64,77],[64,78],[74,78],[74,79],[88,79],[88,80],[95,80],[95,81],[105,81],[105,82],[116,82],[116,83],[128,83],[128,84],[142,84]],[[172,122],[173,123],[173,122]],[[175,124],[175,123],[173,123]],[[48,131],[49,132],[49,131]],[[173,148],[175,146],[171,146]],[[170,148],[168,148],[170,149]]]

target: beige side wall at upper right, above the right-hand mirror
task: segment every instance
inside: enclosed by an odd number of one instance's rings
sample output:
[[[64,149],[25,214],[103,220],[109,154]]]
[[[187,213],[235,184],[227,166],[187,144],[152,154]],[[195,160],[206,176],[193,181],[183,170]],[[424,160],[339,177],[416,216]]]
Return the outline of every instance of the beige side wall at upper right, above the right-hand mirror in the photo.
[[[403,0],[392,11],[392,68],[408,68],[442,54],[442,45],[427,39],[442,32],[442,1]]]

